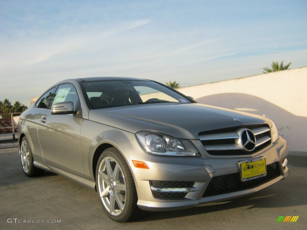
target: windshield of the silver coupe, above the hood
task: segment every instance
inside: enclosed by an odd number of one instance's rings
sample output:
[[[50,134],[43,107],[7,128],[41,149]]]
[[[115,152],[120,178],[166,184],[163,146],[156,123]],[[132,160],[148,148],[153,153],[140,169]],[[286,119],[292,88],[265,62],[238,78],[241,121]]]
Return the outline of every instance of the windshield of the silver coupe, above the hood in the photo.
[[[190,103],[179,93],[152,81],[109,80],[82,82],[92,109],[147,103]]]

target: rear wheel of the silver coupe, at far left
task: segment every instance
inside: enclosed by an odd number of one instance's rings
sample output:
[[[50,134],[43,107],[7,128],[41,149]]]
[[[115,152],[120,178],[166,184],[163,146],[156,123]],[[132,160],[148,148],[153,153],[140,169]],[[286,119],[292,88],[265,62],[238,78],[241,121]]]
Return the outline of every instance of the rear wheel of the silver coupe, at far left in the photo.
[[[45,170],[37,168],[33,165],[32,151],[25,137],[22,138],[20,144],[20,160],[22,170],[28,177],[40,176],[45,172]]]

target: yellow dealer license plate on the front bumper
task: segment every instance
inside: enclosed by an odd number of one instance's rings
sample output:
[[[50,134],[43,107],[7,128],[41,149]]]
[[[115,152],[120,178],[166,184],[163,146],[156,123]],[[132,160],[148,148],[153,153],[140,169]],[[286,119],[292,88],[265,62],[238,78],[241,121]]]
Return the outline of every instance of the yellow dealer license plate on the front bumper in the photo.
[[[266,176],[266,158],[260,157],[251,160],[241,161],[241,181],[250,181]]]

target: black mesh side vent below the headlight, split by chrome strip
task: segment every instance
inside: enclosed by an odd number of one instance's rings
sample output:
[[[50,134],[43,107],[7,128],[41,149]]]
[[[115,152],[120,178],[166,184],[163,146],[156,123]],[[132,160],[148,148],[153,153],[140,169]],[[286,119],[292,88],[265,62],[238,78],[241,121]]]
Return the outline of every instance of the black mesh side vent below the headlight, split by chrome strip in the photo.
[[[194,181],[150,181],[150,185],[156,188],[192,188]],[[159,199],[184,198],[188,193],[153,192],[153,196]]]

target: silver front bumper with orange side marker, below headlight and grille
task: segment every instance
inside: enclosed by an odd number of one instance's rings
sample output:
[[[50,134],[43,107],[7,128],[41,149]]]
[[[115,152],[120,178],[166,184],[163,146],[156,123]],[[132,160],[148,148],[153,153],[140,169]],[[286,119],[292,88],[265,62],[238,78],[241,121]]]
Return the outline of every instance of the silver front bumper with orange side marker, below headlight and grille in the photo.
[[[252,157],[233,157],[233,158],[216,158],[216,157],[166,157],[154,156],[144,153],[136,139],[118,147],[126,158],[130,170],[133,174],[135,186],[138,193],[138,206],[143,210],[165,211],[173,209],[188,208],[200,203],[221,201],[234,197],[240,197],[247,194],[262,190],[289,175],[289,169],[286,164],[288,149],[286,142],[281,137],[264,151],[260,151]],[[214,177],[224,175],[232,175],[236,178],[239,167],[238,162],[246,159],[253,159],[263,156],[266,158],[266,165],[277,167],[278,175],[273,176],[263,183],[248,187],[239,191],[228,192],[224,194],[205,195],[210,181]],[[149,169],[136,168],[132,164],[132,160],[145,162]],[[275,163],[275,164],[274,164]],[[266,178],[266,177],[264,177]],[[217,179],[217,178],[216,178]],[[224,179],[224,180],[227,180]],[[191,191],[184,196],[163,196],[157,197],[155,192],[159,192],[153,181],[165,182],[195,182],[193,186],[189,186]],[[223,181],[221,181],[223,183]],[[242,182],[246,183],[246,182]],[[246,184],[245,184],[246,185]],[[209,186],[210,187],[210,186]],[[246,187],[246,186],[243,186]],[[188,188],[187,188],[188,189]],[[172,190],[170,190],[171,192]],[[178,193],[180,190],[175,191]],[[230,190],[232,191],[232,190]],[[182,193],[181,193],[182,194]],[[171,197],[171,198],[170,198]]]

